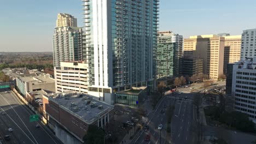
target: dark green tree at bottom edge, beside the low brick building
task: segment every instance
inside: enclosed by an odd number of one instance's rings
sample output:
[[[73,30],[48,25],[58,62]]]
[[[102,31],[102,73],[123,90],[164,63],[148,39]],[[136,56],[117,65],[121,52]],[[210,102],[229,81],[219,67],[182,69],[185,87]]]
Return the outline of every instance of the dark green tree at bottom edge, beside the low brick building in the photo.
[[[104,143],[105,133],[96,125],[89,125],[86,135],[83,137],[85,143],[102,144]]]

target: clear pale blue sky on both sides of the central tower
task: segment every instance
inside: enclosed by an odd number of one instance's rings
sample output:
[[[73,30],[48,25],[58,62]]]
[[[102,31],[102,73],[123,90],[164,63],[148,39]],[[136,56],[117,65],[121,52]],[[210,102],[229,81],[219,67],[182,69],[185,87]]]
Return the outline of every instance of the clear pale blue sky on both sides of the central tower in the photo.
[[[57,13],[83,25],[80,0],[0,1],[0,51],[52,51]],[[160,0],[160,31],[184,35],[230,33],[256,28],[255,0]]]

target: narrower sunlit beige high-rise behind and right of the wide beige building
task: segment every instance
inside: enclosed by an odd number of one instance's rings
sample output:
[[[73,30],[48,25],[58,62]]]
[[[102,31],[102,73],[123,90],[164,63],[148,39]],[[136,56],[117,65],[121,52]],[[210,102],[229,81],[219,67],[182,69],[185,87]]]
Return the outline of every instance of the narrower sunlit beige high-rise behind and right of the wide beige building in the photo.
[[[224,74],[226,74],[226,65],[240,61],[241,53],[241,35],[231,35],[225,38],[224,48]]]

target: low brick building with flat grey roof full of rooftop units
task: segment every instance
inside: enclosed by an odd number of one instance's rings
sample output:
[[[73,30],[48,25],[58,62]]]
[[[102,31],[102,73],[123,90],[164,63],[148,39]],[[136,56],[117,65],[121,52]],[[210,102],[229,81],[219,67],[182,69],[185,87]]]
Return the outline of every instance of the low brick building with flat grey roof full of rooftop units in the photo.
[[[81,142],[89,125],[104,128],[114,112],[112,105],[78,92],[43,95],[43,107],[49,123],[57,123]]]

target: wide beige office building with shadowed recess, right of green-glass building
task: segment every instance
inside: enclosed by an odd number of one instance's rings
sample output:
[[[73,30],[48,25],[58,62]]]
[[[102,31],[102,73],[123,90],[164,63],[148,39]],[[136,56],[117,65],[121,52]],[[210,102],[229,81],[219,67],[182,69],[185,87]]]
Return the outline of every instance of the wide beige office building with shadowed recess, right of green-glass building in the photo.
[[[203,59],[203,74],[218,80],[223,75],[224,37],[196,35],[184,39],[184,56]]]

